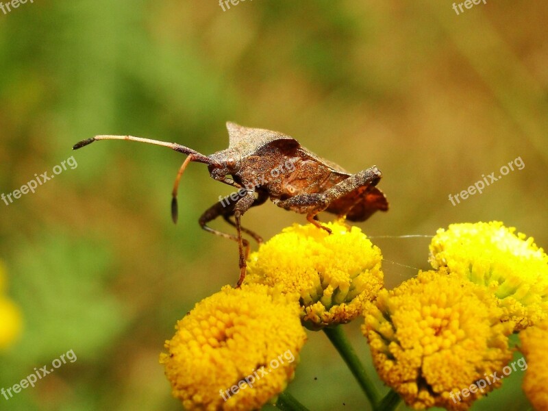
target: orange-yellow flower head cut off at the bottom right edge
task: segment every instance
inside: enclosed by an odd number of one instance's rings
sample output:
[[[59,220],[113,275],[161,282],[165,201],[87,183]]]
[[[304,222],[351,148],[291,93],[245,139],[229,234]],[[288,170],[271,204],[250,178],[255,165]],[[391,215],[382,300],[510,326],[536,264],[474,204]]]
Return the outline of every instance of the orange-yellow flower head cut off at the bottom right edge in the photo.
[[[535,410],[548,410],[548,321],[541,321],[519,333],[521,351],[527,359],[523,391]]]

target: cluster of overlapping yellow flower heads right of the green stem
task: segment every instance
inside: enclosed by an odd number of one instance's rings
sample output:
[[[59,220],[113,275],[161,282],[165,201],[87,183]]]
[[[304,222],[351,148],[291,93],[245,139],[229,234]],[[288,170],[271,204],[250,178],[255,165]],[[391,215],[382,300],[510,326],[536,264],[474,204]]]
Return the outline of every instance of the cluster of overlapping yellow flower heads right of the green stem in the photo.
[[[439,229],[429,247],[434,271],[381,290],[367,305],[362,330],[375,367],[409,406],[468,409],[500,385],[489,376],[512,356],[508,336],[548,316],[548,257],[514,232],[497,221]],[[525,338],[545,341],[540,333],[527,329]],[[533,358],[545,351],[524,340],[527,347]],[[525,386],[543,403],[537,377]]]

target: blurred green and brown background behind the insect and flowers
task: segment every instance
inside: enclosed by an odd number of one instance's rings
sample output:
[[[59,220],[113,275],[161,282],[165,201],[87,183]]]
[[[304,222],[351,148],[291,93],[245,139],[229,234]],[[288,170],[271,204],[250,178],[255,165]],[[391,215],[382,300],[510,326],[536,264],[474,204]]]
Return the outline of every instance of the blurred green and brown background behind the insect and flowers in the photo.
[[[236,244],[197,224],[229,188],[191,164],[173,225],[184,156],[128,142],[71,151],[96,134],[209,154],[227,147],[225,121],[278,130],[349,171],[377,164],[391,210],[360,224],[366,234],[497,219],[546,247],[548,3],[487,1],[460,15],[451,5],[45,0],[0,12],[0,191],[77,161],[0,202],[0,260],[24,316],[0,353],[0,387],[77,355],[0,409],[181,409],[158,353],[177,319],[238,277]],[[451,205],[518,157],[523,170]],[[244,222],[269,238],[305,219],[267,203]],[[427,238],[374,242],[387,287],[416,274],[393,262],[428,267]],[[359,326],[347,329],[370,364]],[[474,409],[523,410],[520,382],[514,373]],[[310,410],[368,409],[322,333],[309,333],[289,390]]]

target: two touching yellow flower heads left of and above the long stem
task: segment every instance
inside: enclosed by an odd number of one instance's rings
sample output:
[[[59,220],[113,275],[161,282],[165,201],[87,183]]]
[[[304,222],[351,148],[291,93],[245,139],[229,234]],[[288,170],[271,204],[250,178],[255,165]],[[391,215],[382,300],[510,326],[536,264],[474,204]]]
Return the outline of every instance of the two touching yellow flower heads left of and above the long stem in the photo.
[[[382,256],[357,227],[293,225],[262,244],[241,288],[225,286],[177,323],[162,353],[187,410],[253,410],[286,388],[310,329],[347,323],[382,288]],[[341,258],[345,256],[345,258]]]

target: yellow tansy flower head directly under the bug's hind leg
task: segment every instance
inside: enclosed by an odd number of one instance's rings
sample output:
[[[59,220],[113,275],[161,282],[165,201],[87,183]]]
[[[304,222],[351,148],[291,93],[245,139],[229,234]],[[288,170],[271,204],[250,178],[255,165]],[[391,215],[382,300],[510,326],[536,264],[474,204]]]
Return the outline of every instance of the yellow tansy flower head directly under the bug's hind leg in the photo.
[[[296,293],[310,329],[348,323],[382,288],[382,255],[358,227],[292,225],[262,244],[248,262],[248,283]]]

